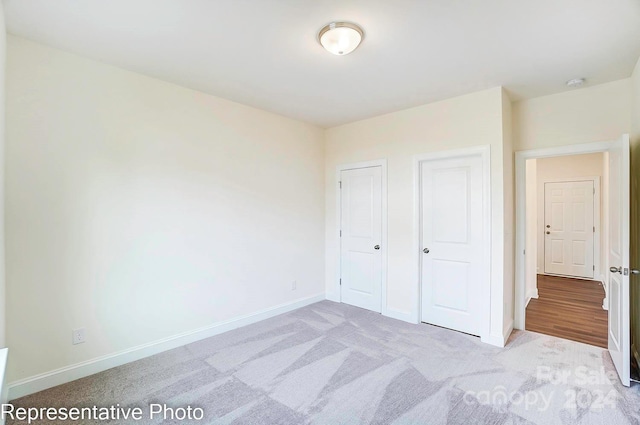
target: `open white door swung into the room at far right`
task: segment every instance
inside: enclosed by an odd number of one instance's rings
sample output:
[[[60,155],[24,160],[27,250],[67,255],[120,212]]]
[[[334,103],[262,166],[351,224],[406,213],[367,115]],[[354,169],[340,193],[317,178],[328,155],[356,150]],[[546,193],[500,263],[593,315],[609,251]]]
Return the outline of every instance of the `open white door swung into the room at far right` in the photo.
[[[630,385],[629,136],[609,150],[609,353],[623,385]]]

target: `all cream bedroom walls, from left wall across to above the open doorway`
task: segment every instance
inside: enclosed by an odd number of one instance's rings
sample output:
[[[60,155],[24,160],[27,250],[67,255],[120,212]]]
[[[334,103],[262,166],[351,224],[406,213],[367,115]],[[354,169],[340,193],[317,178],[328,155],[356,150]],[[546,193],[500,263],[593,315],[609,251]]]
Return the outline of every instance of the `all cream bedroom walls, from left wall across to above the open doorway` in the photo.
[[[617,139],[632,106],[640,140],[638,68],[514,104],[495,88],[323,131],[17,37],[8,58],[10,380],[325,289],[337,299],[345,163],[388,161],[385,307],[417,320],[413,158],[480,145],[492,161],[490,337],[502,338],[513,151]],[[72,346],[77,327],[87,343]]]

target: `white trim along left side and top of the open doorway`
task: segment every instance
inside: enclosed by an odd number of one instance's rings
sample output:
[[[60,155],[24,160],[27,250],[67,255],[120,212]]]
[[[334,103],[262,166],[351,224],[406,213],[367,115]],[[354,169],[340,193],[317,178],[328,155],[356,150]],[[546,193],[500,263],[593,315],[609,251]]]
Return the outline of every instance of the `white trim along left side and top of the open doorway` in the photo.
[[[526,248],[526,175],[525,166],[528,159],[549,158],[555,156],[582,155],[588,153],[608,152],[615,141],[581,143],[553,148],[529,149],[515,153],[516,175],[516,248],[515,248],[515,305],[514,328],[525,328],[526,315],[526,276],[525,276],[525,248]],[[606,217],[605,217],[606,219]],[[604,270],[609,267],[605,260]]]

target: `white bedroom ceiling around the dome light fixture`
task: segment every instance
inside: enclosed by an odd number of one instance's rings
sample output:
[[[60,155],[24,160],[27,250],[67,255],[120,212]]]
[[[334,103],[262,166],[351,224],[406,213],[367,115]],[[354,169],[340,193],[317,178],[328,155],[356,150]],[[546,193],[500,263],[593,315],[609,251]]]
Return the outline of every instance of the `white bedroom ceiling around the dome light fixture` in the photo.
[[[335,126],[505,86],[514,99],[628,77],[638,0],[5,0],[8,31]],[[317,32],[364,28],[334,56]]]

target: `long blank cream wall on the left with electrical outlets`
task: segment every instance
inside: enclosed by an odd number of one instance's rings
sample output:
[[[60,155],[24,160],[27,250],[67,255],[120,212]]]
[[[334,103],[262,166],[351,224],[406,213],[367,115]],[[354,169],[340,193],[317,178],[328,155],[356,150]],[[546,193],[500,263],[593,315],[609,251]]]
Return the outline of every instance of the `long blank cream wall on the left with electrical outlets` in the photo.
[[[7,79],[9,381],[324,293],[322,129],[13,36]]]

